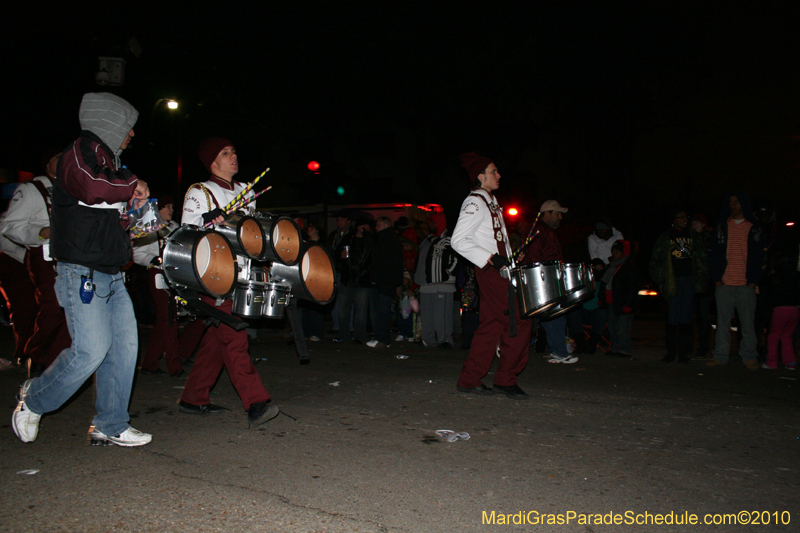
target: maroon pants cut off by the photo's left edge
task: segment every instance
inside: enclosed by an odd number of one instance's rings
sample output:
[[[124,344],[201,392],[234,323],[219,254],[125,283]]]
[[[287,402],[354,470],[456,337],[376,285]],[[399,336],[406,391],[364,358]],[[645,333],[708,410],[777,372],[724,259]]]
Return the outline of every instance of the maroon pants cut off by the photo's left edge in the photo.
[[[25,265],[4,253],[0,253],[0,290],[14,323],[14,361],[21,361],[25,358],[25,345],[33,335],[36,321],[36,288]]]

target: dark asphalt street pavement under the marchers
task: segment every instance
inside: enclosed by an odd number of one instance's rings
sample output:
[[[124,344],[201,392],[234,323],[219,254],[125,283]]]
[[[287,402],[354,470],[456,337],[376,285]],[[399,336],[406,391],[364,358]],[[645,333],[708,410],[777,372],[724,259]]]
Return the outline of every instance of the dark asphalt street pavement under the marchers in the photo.
[[[153,434],[141,448],[87,444],[91,383],[21,443],[10,417],[24,375],[10,368],[0,530],[798,531],[797,373],[735,356],[664,364],[662,339],[663,323],[637,320],[633,360],[558,365],[532,351],[530,399],[515,401],[457,392],[462,350],[328,338],[300,365],[265,328],[251,356],[278,418],[248,428],[224,372],[212,402],[230,411],[208,417],[178,412],[183,382],[137,374],[131,424]],[[8,328],[0,345],[10,357]],[[692,515],[701,523],[681,523]]]

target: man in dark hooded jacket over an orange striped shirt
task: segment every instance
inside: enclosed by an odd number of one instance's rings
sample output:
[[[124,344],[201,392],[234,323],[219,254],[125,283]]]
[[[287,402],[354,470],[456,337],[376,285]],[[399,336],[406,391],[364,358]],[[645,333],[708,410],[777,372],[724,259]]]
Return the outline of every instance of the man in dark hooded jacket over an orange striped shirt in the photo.
[[[730,323],[739,315],[742,342],[739,356],[750,370],[758,370],[755,310],[756,286],[764,265],[762,230],[753,217],[750,198],[743,191],[725,195],[719,223],[711,234],[709,273],[714,280],[717,299],[716,346],[708,366],[728,363],[731,347]]]

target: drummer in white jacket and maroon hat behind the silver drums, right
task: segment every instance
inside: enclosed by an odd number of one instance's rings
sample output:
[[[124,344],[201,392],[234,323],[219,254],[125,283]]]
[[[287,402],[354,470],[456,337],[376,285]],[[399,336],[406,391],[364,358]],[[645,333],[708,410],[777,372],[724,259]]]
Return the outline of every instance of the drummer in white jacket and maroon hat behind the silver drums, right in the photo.
[[[461,155],[461,166],[474,184],[472,192],[461,205],[456,228],[450,244],[477,267],[475,276],[480,295],[480,323],[464,368],[458,378],[460,392],[491,395],[495,391],[515,400],[528,394],[517,384],[517,376],[528,363],[531,338],[530,320],[520,316],[519,307],[509,309],[509,281],[501,270],[509,266],[511,256],[503,214],[492,194],[500,187],[500,173],[488,157],[474,152]],[[516,335],[512,336],[508,313],[516,315]],[[494,389],[481,382],[489,372],[500,345],[500,366],[494,375]]]

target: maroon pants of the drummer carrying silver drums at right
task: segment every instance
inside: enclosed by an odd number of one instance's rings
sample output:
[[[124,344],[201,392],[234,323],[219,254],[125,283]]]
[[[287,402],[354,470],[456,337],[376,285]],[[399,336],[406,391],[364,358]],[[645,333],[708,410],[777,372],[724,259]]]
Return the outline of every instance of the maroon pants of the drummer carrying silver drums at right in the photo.
[[[508,387],[517,384],[517,376],[528,364],[531,341],[531,321],[519,314],[515,305],[517,336],[509,337],[510,320],[508,310],[509,282],[494,269],[475,268],[480,296],[480,323],[467,360],[458,378],[458,386],[474,389],[489,372],[500,343],[500,365],[494,375],[494,385]]]

